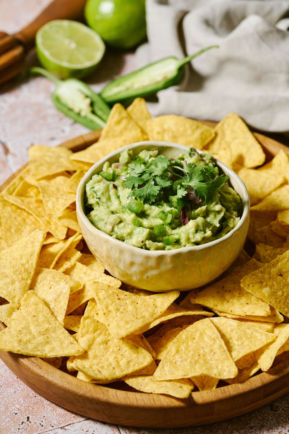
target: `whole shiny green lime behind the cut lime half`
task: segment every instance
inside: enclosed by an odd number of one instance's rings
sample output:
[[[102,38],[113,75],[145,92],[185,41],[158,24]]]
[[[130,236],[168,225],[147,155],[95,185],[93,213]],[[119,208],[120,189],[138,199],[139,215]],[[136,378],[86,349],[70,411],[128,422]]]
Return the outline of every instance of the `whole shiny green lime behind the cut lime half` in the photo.
[[[132,48],[146,37],[145,0],[88,0],[84,16],[111,47]]]

